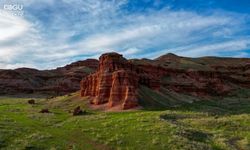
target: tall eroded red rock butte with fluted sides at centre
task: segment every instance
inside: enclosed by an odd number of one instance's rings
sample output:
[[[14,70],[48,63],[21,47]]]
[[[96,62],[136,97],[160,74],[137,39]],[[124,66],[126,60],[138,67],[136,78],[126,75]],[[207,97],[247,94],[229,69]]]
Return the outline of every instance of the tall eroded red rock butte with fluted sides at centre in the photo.
[[[81,82],[81,96],[94,97],[92,104],[108,103],[109,107],[129,109],[138,106],[139,84],[157,89],[158,79],[153,78],[117,53],[103,54],[96,73]]]

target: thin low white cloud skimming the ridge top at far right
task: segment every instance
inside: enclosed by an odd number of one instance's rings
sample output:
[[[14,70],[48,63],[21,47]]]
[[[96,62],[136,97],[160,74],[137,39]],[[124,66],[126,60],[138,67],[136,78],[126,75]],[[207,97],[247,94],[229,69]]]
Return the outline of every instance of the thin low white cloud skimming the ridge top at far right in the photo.
[[[157,58],[165,53],[175,53],[180,56],[187,57],[201,57],[201,56],[220,56],[220,53],[227,53],[224,56],[230,57],[249,57],[249,54],[242,51],[250,49],[250,39],[228,40],[223,42],[214,42],[209,44],[190,44],[186,46],[179,46],[170,49],[163,49],[157,52],[151,52],[142,57]],[[232,55],[231,52],[236,52]]]

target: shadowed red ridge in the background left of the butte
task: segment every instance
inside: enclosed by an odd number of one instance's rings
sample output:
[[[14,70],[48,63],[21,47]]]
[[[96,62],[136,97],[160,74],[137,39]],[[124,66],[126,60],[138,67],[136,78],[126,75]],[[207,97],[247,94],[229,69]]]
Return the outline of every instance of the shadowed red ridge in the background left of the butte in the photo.
[[[94,72],[97,66],[97,60],[87,59],[53,70],[0,70],[0,94],[60,95],[75,92],[80,89],[81,79]]]

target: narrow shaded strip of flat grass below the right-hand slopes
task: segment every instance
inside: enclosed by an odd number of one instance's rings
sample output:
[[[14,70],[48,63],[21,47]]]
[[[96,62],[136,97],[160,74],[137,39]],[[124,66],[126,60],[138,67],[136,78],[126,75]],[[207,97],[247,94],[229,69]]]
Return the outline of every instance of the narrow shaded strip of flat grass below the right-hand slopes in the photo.
[[[143,105],[143,104],[142,104]],[[192,111],[207,113],[212,116],[250,114],[250,98],[214,98],[212,100],[201,100],[193,103],[182,103],[178,105],[144,105],[147,111]]]

